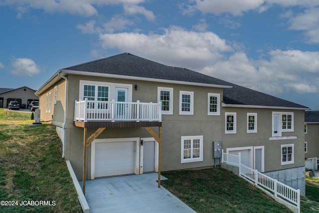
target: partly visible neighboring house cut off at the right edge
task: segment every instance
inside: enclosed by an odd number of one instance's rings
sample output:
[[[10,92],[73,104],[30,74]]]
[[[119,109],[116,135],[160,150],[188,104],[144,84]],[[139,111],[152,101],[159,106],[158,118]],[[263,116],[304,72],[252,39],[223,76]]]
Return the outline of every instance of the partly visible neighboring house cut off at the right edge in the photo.
[[[319,169],[319,110],[305,111],[305,164],[307,169]]]

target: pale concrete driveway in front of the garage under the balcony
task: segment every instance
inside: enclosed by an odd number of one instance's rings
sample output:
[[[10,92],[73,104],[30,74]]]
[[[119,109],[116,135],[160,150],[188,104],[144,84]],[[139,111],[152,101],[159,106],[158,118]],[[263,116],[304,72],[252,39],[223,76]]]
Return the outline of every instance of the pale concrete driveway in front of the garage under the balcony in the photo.
[[[162,186],[158,188],[157,180],[157,173],[88,180],[85,198],[90,213],[195,213]]]

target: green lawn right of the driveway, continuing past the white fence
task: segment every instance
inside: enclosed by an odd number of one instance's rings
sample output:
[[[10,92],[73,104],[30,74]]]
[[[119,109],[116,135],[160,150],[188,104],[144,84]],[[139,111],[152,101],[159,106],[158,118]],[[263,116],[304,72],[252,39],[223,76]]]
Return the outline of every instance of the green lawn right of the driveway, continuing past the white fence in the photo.
[[[197,213],[291,213],[264,192],[222,168],[161,173],[161,185]],[[318,188],[302,197],[302,213],[318,213]],[[310,192],[306,192],[310,194]],[[313,196],[313,197],[312,197]]]

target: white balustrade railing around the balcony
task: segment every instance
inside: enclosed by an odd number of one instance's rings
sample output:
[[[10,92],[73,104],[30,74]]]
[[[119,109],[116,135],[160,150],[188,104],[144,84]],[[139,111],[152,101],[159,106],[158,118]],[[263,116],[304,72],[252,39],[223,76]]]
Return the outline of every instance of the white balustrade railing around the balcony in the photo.
[[[161,103],[121,102],[121,101],[75,101],[75,121],[159,121]]]

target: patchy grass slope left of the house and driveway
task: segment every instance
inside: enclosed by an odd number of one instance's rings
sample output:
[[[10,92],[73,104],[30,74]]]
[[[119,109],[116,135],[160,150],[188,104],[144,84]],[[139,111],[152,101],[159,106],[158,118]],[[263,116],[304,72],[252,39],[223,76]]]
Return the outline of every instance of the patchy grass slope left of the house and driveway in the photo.
[[[52,206],[1,206],[0,212],[82,212],[54,126],[28,127],[30,117],[0,109],[0,200]]]

